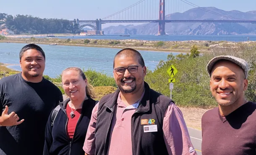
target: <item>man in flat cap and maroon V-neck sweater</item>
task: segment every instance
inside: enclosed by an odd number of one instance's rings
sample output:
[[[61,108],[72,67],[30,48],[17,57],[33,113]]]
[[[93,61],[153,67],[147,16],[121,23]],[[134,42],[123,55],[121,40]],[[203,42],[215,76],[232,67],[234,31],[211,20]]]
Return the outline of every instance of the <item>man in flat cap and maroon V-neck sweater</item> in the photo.
[[[256,103],[247,101],[248,64],[232,56],[207,65],[218,107],[202,116],[203,155],[256,155]]]

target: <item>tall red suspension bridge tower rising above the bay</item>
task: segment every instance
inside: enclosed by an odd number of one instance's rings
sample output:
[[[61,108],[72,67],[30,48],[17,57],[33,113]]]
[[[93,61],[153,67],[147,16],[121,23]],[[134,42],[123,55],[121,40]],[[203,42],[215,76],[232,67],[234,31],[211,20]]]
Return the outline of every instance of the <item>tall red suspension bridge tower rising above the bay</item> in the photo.
[[[158,35],[165,35],[165,0],[159,0]]]

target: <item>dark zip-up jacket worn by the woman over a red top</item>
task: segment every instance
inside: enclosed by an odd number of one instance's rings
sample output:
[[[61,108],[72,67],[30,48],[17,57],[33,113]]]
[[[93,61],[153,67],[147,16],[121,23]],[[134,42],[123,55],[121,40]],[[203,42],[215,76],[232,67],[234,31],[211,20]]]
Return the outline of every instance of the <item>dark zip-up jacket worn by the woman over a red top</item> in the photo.
[[[53,111],[51,112],[45,129],[43,155],[84,155],[84,140],[91,119],[91,111],[96,103],[95,100],[88,98],[84,101],[72,140],[67,135],[68,116],[66,106],[70,98],[60,103],[61,109],[57,113],[53,127],[51,125]]]

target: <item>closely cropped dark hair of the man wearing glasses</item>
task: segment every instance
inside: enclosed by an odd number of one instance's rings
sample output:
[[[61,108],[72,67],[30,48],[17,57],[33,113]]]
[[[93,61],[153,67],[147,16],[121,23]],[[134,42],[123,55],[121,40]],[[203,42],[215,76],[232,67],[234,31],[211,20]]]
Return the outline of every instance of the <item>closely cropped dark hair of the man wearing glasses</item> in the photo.
[[[121,55],[126,55],[126,56],[131,56],[131,57],[136,57],[138,58],[138,63],[141,65],[141,66],[145,66],[145,62],[144,62],[144,59],[143,57],[141,56],[140,52],[138,52],[137,50],[135,49],[131,49],[131,48],[125,48],[125,49],[122,49],[120,50],[117,54],[115,54],[115,57],[114,57],[114,62],[113,62],[113,68],[115,67],[115,58],[116,57],[119,57]]]

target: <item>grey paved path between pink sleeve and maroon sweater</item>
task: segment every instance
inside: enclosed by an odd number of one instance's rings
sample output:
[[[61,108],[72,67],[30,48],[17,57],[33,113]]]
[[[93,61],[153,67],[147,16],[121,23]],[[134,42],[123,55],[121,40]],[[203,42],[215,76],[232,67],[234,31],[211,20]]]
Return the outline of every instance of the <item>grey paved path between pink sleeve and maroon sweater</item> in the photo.
[[[197,129],[193,129],[188,127],[188,132],[190,135],[191,142],[197,152],[198,155],[202,155],[201,152],[201,144],[202,144],[202,132]]]

